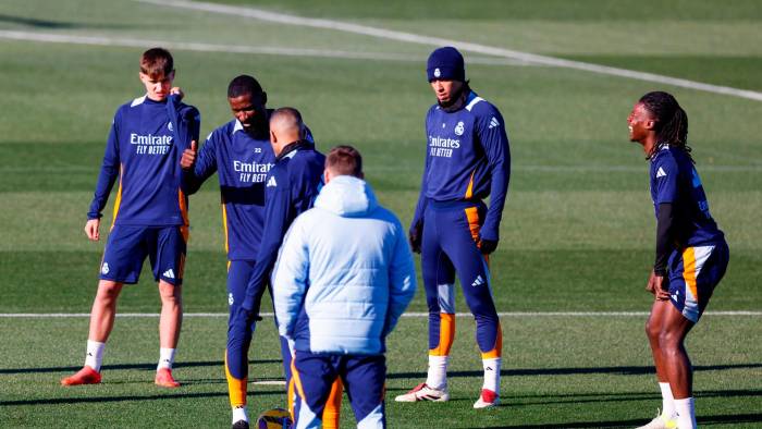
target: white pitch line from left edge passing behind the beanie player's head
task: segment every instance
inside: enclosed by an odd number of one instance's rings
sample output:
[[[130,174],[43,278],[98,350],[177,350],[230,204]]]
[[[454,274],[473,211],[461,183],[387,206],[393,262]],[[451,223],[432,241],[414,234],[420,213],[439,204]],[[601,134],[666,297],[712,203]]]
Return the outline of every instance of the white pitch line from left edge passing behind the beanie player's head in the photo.
[[[168,49],[188,50],[198,52],[222,52],[222,53],[248,53],[265,56],[284,57],[315,57],[315,58],[339,58],[347,60],[376,60],[376,61],[403,61],[421,62],[425,57],[393,53],[393,52],[353,52],[334,49],[308,49],[308,48],[284,48],[284,47],[251,47],[241,45],[214,45],[195,41],[169,41],[137,38],[116,38],[106,36],[78,36],[63,35],[54,33],[0,30],[0,38],[9,40],[39,41],[48,44],[69,45],[90,45],[90,46],[118,46],[125,48],[146,48],[148,46],[162,46]],[[475,63],[486,65],[529,65],[526,62],[501,59],[501,58],[477,58]]]

